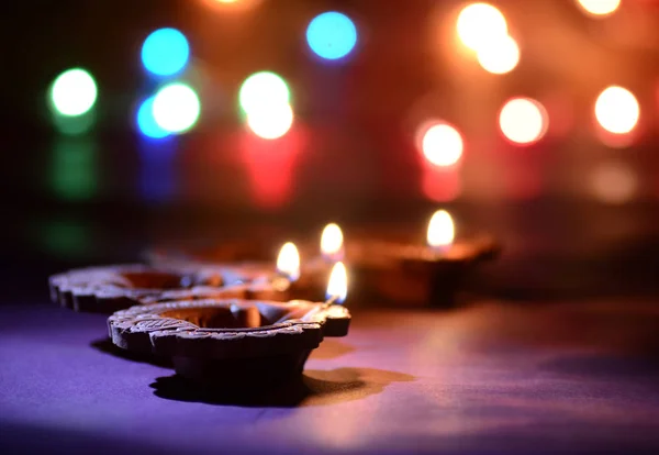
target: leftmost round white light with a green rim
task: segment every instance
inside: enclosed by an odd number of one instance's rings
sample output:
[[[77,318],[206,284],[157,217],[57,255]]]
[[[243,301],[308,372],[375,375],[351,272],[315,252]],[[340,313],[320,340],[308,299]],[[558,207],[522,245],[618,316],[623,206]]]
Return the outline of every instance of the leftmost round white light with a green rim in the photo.
[[[81,68],[68,69],[57,76],[51,87],[53,108],[60,115],[76,116],[88,112],[96,103],[97,85]]]

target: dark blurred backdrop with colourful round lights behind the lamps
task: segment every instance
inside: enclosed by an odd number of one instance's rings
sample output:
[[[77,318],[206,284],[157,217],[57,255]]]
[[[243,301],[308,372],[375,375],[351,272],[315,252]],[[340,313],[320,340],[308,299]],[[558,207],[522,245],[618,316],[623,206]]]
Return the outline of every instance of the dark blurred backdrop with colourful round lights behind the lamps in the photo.
[[[659,1],[5,8],[14,299],[149,245],[276,251],[328,221],[416,241],[437,208],[504,245],[474,291],[657,293]]]

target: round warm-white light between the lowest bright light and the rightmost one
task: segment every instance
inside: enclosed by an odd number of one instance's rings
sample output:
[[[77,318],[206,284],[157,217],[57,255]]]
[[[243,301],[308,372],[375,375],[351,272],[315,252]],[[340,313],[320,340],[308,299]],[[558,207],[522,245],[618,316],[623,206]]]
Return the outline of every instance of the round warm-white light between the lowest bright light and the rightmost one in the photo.
[[[532,144],[539,141],[549,124],[547,111],[539,102],[528,98],[513,98],[499,114],[499,126],[503,135],[515,144]]]

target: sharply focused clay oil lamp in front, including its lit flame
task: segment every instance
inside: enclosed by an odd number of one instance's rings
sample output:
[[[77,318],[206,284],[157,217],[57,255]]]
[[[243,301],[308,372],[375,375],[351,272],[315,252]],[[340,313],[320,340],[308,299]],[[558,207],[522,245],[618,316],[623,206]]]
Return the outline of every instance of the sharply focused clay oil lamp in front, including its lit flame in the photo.
[[[183,300],[136,306],[108,320],[112,342],[134,353],[171,358],[176,371],[206,385],[260,387],[297,379],[325,336],[345,336],[350,313],[343,264],[332,271],[327,301]]]

